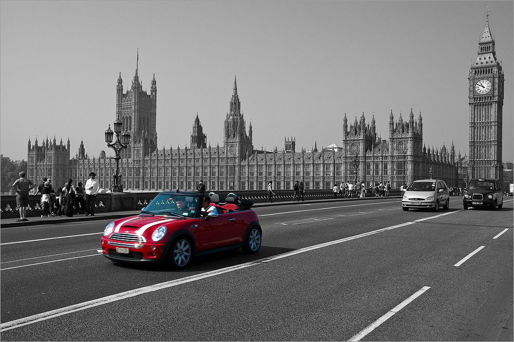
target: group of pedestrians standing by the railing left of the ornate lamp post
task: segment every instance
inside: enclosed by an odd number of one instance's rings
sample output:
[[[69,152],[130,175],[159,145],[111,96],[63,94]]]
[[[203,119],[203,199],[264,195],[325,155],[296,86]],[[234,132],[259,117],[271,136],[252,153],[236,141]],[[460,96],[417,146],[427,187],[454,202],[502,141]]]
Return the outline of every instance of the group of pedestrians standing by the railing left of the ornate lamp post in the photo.
[[[98,181],[95,179],[95,172],[89,173],[85,186],[82,182],[73,185],[70,178],[63,187],[57,190],[52,186],[51,179],[43,177],[43,182],[38,186],[36,195],[41,194],[41,206],[43,213],[41,217],[63,216],[72,217],[74,212],[95,216],[96,195],[99,190]],[[16,191],[16,206],[20,211],[20,219],[17,221],[28,221],[26,218],[29,205],[29,191],[35,188],[34,182],[26,179],[25,172],[20,172],[20,178],[12,185]]]

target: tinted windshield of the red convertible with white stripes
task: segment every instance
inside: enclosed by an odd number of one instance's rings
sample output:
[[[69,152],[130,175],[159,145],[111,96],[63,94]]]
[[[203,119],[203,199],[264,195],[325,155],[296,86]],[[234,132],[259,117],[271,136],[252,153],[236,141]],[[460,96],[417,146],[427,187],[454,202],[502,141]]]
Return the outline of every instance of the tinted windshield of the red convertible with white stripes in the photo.
[[[144,208],[144,212],[154,215],[176,216],[178,214],[182,217],[196,217],[199,199],[199,194],[159,193]]]

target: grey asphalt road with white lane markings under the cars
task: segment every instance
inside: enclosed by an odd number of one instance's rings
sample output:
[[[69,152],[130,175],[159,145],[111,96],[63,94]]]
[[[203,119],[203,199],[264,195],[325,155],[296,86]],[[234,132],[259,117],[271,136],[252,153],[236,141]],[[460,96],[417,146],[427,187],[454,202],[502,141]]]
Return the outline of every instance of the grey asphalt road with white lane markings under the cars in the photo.
[[[256,208],[263,244],[113,263],[110,221],[2,228],[2,340],[513,340],[513,210]]]

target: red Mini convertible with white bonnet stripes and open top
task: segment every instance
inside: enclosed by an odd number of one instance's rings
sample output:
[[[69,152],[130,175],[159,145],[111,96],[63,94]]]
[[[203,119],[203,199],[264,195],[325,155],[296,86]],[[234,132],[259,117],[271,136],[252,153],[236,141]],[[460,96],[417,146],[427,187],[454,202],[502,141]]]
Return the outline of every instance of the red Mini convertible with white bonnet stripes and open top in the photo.
[[[203,202],[198,192],[159,193],[139,215],[105,227],[103,255],[117,262],[168,262],[181,269],[195,256],[240,247],[248,254],[259,251],[262,230],[252,202],[212,194],[209,202],[217,214],[203,211]]]

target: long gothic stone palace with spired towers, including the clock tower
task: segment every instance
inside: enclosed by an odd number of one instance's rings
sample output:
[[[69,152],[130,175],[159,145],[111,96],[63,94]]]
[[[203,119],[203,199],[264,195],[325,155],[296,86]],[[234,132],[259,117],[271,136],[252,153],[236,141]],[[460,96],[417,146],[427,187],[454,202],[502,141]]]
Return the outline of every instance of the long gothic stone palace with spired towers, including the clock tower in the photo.
[[[364,113],[348,123],[343,118],[341,147],[334,145],[312,151],[296,151],[295,138],[284,140],[284,149],[255,149],[252,125],[248,131],[241,111],[234,79],[232,98],[223,129],[223,146],[206,146],[207,136],[198,115],[194,119],[190,147],[157,148],[157,85],[155,75],[150,94],[143,91],[138,69],[131,89],[123,93],[121,73],[116,94],[116,119],[131,135],[120,160],[124,191],[194,190],[200,179],[211,190],[264,190],[273,181],[273,189],[292,189],[302,181],[305,189],[331,189],[334,184],[353,181],[366,186],[390,181],[393,188],[415,179],[442,178],[448,186],[465,186],[474,177],[499,178],[503,182],[502,117],[504,74],[498,61],[489,15],[478,53],[468,76],[469,156],[455,154],[452,145],[426,148],[423,142],[423,117],[412,112],[407,118],[389,115],[389,139],[376,132]],[[46,176],[53,184],[65,184],[68,178],[83,183],[89,172],[97,174],[100,188],[111,189],[116,163],[102,151],[90,159],[81,142],[78,153],[70,159],[69,138],[28,141],[27,176],[39,180]],[[358,162],[356,162],[358,160]],[[355,167],[355,166],[356,167]],[[357,174],[355,175],[355,171]]]

